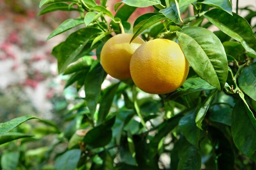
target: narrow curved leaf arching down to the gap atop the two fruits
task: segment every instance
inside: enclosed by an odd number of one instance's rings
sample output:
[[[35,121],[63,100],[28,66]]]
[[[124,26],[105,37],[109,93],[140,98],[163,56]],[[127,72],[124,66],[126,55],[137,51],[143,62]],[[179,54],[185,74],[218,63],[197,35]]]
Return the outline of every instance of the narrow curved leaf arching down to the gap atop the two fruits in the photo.
[[[148,20],[146,20],[137,31],[135,31],[132,39],[130,40],[130,42],[132,42],[132,40],[134,40],[142,31],[146,30],[148,27],[150,27],[153,24],[156,24],[157,22],[160,22],[162,20],[167,19],[164,15],[153,15],[152,17],[148,18]]]

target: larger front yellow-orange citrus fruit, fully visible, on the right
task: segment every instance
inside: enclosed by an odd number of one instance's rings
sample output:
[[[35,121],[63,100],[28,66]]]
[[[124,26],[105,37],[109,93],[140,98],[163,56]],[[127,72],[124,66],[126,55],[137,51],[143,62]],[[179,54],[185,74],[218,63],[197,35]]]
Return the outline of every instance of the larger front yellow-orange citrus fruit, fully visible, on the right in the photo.
[[[183,84],[189,73],[189,63],[176,42],[155,39],[142,44],[133,53],[130,73],[142,91],[165,94]]]

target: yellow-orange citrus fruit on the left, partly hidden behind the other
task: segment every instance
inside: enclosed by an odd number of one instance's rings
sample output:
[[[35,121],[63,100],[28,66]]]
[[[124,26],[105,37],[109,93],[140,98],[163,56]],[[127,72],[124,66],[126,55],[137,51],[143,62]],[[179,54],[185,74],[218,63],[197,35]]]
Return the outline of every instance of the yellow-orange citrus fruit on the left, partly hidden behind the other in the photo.
[[[122,33],[110,38],[101,50],[101,65],[114,78],[128,79],[130,75],[130,59],[134,51],[145,43],[137,37],[131,43],[132,34]]]

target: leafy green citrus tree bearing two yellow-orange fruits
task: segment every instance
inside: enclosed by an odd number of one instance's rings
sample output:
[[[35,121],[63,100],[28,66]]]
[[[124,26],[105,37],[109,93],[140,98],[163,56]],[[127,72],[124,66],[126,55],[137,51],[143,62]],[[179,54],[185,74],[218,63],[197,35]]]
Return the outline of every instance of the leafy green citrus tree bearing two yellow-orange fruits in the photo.
[[[254,170],[255,12],[246,7],[249,14],[243,18],[232,12],[229,0],[106,4],[40,2],[46,7],[39,15],[79,13],[47,40],[72,29],[52,55],[59,73],[70,75],[65,88],[75,86],[85,97],[77,95],[74,106],[62,113],[68,126],[41,120],[54,129],[48,133],[57,135],[46,150],[33,152],[40,155],[36,163],[22,159],[23,149],[4,152],[2,168],[9,170],[13,163],[7,160],[16,154],[18,167],[44,170]],[[143,7],[154,11],[128,22]],[[22,137],[27,140],[21,146],[31,141],[11,130],[33,118],[0,124],[0,144]]]

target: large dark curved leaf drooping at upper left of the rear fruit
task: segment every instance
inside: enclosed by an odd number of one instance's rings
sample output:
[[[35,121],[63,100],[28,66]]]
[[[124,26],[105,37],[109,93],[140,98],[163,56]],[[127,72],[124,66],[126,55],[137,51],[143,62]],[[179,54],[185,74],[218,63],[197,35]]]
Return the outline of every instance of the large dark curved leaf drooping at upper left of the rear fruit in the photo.
[[[61,45],[58,51],[58,70],[64,72],[67,66],[74,62],[81,51],[85,51],[90,38],[100,33],[101,30],[94,27],[86,27],[72,33]],[[89,48],[90,49],[90,46]],[[90,51],[88,51],[90,52]]]

